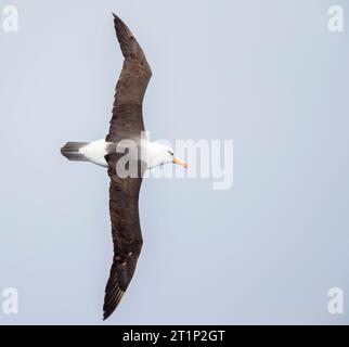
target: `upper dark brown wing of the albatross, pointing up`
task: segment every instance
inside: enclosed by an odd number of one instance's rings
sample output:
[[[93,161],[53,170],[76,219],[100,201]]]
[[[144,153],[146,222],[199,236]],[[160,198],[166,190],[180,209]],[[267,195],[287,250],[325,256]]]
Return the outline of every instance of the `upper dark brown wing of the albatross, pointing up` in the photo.
[[[118,16],[113,15],[125,61],[115,90],[113,117],[106,141],[118,142],[139,137],[144,130],[142,104],[152,70],[131,30]]]

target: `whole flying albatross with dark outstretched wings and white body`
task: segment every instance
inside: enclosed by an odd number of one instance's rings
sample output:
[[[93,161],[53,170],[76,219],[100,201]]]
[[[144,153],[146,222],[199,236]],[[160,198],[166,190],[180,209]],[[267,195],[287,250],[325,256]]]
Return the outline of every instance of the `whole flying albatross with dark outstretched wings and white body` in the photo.
[[[109,132],[102,140],[67,142],[61,150],[69,160],[91,162],[108,169],[114,258],[105,288],[104,320],[120,303],[141,253],[139,193],[144,171],[166,163],[188,167],[170,147],[151,142],[143,134],[142,104],[152,70],[131,30],[113,15],[125,61],[116,85]],[[127,164],[119,165],[125,157]],[[131,167],[135,168],[133,172]]]

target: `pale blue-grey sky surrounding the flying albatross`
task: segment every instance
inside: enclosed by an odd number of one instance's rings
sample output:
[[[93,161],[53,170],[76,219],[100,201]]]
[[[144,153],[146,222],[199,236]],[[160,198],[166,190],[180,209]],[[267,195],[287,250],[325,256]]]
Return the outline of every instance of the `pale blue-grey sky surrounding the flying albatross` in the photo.
[[[0,9],[9,4],[0,0]],[[348,31],[344,0],[13,0],[0,30],[0,323],[102,323],[112,261],[108,178],[68,163],[103,138],[121,67],[111,12],[153,68],[153,139],[233,139],[234,188],[146,180],[144,247],[106,324],[348,323]],[[3,16],[2,16],[3,18]],[[0,303],[3,298],[0,296]]]

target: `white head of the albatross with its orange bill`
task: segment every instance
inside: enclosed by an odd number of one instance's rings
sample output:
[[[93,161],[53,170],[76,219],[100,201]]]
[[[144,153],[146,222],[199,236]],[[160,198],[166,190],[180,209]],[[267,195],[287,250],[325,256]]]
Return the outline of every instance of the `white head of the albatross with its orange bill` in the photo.
[[[178,158],[172,149],[161,143],[148,142],[148,145],[147,145],[148,168],[154,168],[168,163],[178,164],[184,168],[188,168],[188,164],[184,160]]]

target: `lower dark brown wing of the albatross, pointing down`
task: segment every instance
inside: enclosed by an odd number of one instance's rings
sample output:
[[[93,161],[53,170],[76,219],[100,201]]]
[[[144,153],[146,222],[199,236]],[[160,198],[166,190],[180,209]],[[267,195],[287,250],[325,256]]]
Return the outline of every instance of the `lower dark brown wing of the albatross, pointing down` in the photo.
[[[105,288],[104,319],[114,312],[131,282],[143,244],[138,208],[142,178],[121,179],[113,168],[115,159],[107,160],[114,260]]]

